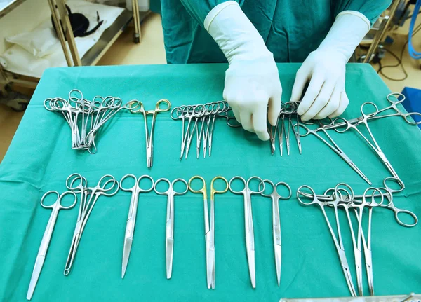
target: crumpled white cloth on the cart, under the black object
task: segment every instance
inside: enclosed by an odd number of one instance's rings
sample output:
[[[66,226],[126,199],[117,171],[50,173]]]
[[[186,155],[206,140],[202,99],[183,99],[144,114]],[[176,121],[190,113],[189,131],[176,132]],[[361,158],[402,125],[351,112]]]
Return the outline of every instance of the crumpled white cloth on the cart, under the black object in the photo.
[[[83,13],[88,18],[89,29],[98,24],[97,11],[100,15],[100,20],[104,20],[93,34],[75,38],[80,57],[83,57],[97,43],[105,29],[110,27],[124,10],[115,6],[93,4],[81,0],[68,1],[67,5],[72,10],[72,13]],[[51,18],[45,20],[32,32],[8,37],[7,40],[14,43],[14,45],[0,56],[0,64],[8,71],[41,78],[42,73],[48,67],[67,66],[65,55],[62,51],[60,40],[53,29]]]

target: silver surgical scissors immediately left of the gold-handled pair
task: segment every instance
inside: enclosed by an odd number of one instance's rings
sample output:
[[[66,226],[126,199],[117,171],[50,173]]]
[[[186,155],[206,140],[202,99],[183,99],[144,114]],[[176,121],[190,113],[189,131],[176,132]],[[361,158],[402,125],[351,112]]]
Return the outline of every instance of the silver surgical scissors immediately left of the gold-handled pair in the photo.
[[[167,191],[158,191],[156,186],[164,181],[168,184]],[[174,185],[176,182],[181,181],[186,185],[185,191],[175,191]],[[171,278],[173,273],[173,252],[174,252],[174,196],[175,195],[184,195],[189,191],[189,184],[184,179],[178,178],[174,179],[172,182],[166,178],[160,178],[155,181],[154,191],[158,195],[167,195],[167,213],[166,213],[166,228],[165,228],[165,259],[166,259],[166,277],[167,279]]]

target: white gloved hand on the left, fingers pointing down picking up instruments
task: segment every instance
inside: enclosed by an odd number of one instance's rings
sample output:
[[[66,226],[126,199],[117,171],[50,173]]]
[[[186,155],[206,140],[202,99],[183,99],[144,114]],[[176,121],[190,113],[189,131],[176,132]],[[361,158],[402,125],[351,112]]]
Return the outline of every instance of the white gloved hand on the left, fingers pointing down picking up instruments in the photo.
[[[245,130],[269,139],[267,116],[269,123],[276,125],[282,95],[273,54],[235,1],[215,6],[204,25],[229,63],[224,99]]]

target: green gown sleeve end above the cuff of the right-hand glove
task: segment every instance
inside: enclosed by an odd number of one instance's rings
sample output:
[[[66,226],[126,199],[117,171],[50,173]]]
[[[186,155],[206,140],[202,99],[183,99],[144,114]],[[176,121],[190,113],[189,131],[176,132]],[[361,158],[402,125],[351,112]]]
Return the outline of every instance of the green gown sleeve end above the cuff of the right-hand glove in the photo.
[[[342,0],[336,1],[335,16],[342,11],[359,11],[370,20],[371,26],[392,0]]]

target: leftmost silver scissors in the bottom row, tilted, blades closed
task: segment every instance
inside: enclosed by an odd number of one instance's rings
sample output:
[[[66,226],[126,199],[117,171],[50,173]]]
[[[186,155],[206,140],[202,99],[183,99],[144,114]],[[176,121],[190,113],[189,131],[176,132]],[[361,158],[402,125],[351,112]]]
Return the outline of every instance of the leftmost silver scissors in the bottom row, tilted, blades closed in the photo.
[[[52,205],[46,205],[44,203],[44,199],[46,196],[50,195],[51,193],[57,195],[55,202]],[[73,195],[74,202],[71,205],[64,206],[62,205],[62,199],[65,195]],[[36,282],[38,282],[39,275],[41,274],[42,267],[44,266],[44,261],[46,260],[48,246],[51,242],[51,237],[53,236],[55,221],[57,221],[58,212],[60,210],[69,210],[72,209],[77,203],[77,197],[74,192],[66,191],[65,193],[59,194],[57,191],[48,191],[46,192],[41,198],[41,206],[46,209],[51,209],[50,219],[48,219],[48,224],[46,226],[46,231],[44,231],[44,235],[42,236],[41,245],[39,246],[38,254],[36,255],[36,261],[34,265],[34,270],[32,271],[31,281],[29,282],[29,288],[27,292],[27,299],[31,300],[32,295],[34,294],[34,290],[36,287]]]

